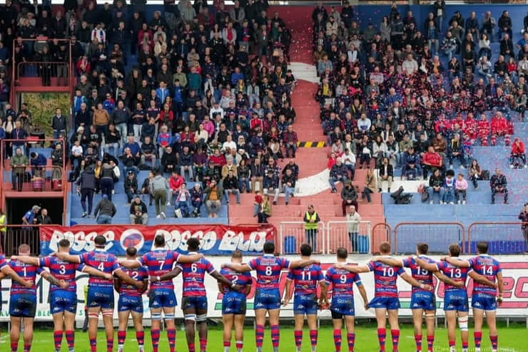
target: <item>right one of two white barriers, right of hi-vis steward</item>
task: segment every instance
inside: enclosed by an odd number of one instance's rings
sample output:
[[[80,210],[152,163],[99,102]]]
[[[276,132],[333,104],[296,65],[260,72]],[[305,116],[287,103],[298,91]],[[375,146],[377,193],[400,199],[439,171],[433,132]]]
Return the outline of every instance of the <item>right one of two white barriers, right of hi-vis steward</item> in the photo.
[[[328,253],[335,253],[337,248],[345,247],[348,253],[370,253],[370,221],[329,221],[326,224],[326,248]]]

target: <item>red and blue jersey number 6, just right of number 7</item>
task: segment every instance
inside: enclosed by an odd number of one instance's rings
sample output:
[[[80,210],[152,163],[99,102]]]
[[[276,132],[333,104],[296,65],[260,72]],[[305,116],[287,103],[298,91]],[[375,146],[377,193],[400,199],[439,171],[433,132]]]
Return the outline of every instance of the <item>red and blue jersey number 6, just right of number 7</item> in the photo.
[[[189,252],[189,254],[196,253]],[[200,258],[194,263],[180,263],[178,267],[183,278],[183,297],[207,296],[203,281],[205,273],[211,274],[216,271],[213,264],[205,258]]]

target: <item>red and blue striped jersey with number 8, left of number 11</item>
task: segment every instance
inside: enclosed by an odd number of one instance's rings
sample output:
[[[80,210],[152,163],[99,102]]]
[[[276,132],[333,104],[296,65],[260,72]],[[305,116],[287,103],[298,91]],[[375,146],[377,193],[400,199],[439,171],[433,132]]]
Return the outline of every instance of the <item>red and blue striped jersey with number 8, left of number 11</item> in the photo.
[[[278,289],[280,271],[288,269],[290,261],[273,254],[264,254],[251,259],[248,266],[257,271],[257,289]]]

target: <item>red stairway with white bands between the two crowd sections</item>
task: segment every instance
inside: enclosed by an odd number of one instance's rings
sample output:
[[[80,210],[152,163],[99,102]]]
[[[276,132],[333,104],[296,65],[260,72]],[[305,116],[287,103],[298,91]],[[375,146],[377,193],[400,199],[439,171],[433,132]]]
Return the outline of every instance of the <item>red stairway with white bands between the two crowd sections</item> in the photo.
[[[298,9],[297,6],[295,7]],[[318,89],[318,77],[315,73],[315,66],[313,65],[311,55],[311,8],[310,6],[305,7],[307,14],[295,14],[293,17],[289,17],[288,14],[283,14],[282,11],[280,12],[280,16],[292,19],[293,21],[290,25],[293,40],[290,50],[291,62],[289,68],[298,79],[298,85],[291,96],[293,107],[297,113],[297,118],[293,126],[300,142],[323,142],[326,140],[326,136],[323,135],[323,129],[320,125],[319,105],[313,98]],[[281,8],[281,10],[283,9]],[[287,9],[285,10],[287,11]],[[299,178],[303,179],[305,177],[322,174],[323,171],[327,170],[329,152],[330,147],[328,146],[323,148],[298,148],[295,162],[299,165]],[[283,167],[286,162],[288,160],[280,161],[279,164]],[[365,184],[365,175],[366,170],[356,170],[355,172],[354,185],[358,185],[360,190],[363,189]],[[342,185],[338,184],[337,190],[340,191],[341,188]],[[285,198],[281,196],[278,204],[272,206],[272,216],[268,219],[268,222],[274,224],[279,229],[280,222],[302,221],[308,205],[314,205],[315,210],[323,222],[343,220],[340,193],[330,192],[328,176],[320,175],[318,180],[314,181],[313,189],[315,189],[315,192],[310,192],[308,196],[295,195],[295,197],[290,198],[289,205],[285,205]],[[303,190],[306,190],[306,187],[303,187]],[[229,205],[230,224],[254,224],[256,222],[256,217],[253,217],[254,195],[241,195],[240,205],[235,205],[234,197],[231,197]],[[363,220],[372,222],[372,226],[380,222],[385,222],[379,193],[372,195],[371,204],[360,202],[358,212],[361,214]]]

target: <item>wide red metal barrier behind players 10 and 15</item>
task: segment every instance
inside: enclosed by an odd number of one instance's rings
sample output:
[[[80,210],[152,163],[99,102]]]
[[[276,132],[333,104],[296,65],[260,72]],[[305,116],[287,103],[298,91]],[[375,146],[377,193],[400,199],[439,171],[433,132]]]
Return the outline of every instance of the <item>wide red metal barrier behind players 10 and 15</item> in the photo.
[[[394,228],[395,253],[414,253],[416,244],[429,244],[432,253],[445,253],[449,244],[458,243],[466,252],[464,225],[460,222],[402,222]]]

